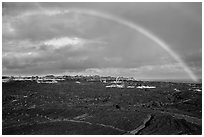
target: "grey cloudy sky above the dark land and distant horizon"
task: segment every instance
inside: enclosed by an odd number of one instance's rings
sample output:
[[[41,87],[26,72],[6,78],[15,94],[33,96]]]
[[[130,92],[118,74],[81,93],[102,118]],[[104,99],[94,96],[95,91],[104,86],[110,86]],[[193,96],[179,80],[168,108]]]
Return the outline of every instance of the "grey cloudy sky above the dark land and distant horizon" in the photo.
[[[192,79],[185,67],[201,78],[201,3],[2,4],[3,75]]]

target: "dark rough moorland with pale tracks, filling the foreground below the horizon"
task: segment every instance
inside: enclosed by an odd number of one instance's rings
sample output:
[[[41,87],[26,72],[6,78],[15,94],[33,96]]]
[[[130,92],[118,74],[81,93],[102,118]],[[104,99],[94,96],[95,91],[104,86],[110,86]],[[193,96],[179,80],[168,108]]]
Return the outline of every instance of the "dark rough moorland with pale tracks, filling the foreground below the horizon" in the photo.
[[[2,83],[2,134],[202,134],[202,84],[126,82]]]

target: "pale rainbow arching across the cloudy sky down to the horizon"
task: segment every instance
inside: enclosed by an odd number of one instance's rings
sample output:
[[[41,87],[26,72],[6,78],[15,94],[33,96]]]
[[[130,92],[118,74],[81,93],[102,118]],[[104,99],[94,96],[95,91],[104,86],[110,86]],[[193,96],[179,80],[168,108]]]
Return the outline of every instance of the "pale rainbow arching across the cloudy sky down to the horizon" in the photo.
[[[163,40],[158,38],[155,34],[151,33],[150,31],[146,30],[145,28],[141,27],[140,25],[133,23],[131,21],[122,19],[120,17],[117,17],[115,15],[107,14],[105,12],[100,12],[96,10],[90,10],[90,9],[66,9],[66,10],[47,10],[42,7],[40,7],[41,11],[37,12],[31,12],[31,13],[24,13],[21,16],[18,16],[17,18],[21,18],[23,16],[30,16],[34,14],[46,14],[49,16],[52,15],[58,15],[58,14],[66,14],[66,13],[79,13],[79,14],[85,14],[85,15],[90,15],[90,16],[95,16],[103,19],[107,19],[110,21],[114,21],[116,23],[122,24],[130,29],[133,29],[137,32],[140,32],[144,36],[148,37],[150,40],[155,42],[158,46],[160,46],[162,49],[164,49],[175,61],[179,63],[179,65],[184,69],[184,71],[188,74],[188,76],[193,80],[193,81],[198,81],[198,78],[196,75],[191,71],[189,66],[179,57],[178,54],[176,54],[171,48],[170,45],[165,43]]]

